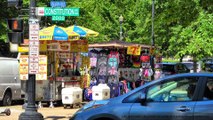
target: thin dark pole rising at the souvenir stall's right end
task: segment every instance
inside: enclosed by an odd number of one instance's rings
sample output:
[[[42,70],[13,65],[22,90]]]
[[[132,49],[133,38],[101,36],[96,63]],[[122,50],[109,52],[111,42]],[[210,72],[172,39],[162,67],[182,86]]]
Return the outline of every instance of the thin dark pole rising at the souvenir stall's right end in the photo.
[[[154,37],[154,15],[155,15],[155,1],[152,0],[152,39],[151,39],[151,57],[150,57],[150,65],[153,71],[153,75],[151,76],[151,80],[154,80],[154,74],[155,74],[155,69],[154,69],[154,48],[155,48],[155,37]]]

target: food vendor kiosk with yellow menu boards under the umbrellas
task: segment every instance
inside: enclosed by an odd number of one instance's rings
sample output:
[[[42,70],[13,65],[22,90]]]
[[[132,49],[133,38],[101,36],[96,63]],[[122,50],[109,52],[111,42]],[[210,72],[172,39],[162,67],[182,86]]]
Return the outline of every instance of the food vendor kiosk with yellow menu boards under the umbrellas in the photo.
[[[28,79],[27,47],[21,46],[19,51],[22,52],[20,79],[26,81]],[[79,87],[80,66],[84,64],[81,52],[87,51],[87,40],[40,41],[39,74],[36,74],[36,101],[47,102],[50,107],[53,107],[53,102],[61,103],[62,88]],[[22,86],[26,86],[26,83],[23,82]]]

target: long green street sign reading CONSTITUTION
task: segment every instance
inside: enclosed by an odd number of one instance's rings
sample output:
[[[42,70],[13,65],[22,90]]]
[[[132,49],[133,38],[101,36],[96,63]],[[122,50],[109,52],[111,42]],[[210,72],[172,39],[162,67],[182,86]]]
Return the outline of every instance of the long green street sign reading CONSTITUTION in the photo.
[[[79,16],[79,8],[37,7],[37,16]]]

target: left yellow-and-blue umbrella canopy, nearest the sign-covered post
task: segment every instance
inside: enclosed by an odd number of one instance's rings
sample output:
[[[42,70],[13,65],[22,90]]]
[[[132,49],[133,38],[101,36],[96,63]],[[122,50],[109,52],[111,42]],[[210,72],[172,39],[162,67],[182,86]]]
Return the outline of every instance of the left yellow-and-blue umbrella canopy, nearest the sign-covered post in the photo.
[[[66,28],[61,26],[50,26],[39,31],[39,40],[59,40],[67,41],[69,36],[79,37],[77,33],[67,33]]]

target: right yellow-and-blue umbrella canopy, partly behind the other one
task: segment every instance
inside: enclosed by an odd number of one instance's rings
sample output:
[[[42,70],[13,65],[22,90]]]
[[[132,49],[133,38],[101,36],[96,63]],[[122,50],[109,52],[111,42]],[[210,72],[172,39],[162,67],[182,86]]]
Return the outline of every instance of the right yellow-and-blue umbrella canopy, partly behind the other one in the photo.
[[[80,37],[96,37],[99,35],[98,32],[95,32],[91,29],[88,29],[88,28],[85,28],[85,27],[82,27],[82,26],[77,26],[77,25],[72,25],[72,26],[69,26],[66,28],[66,32],[69,34],[69,33],[77,33],[80,35]]]

